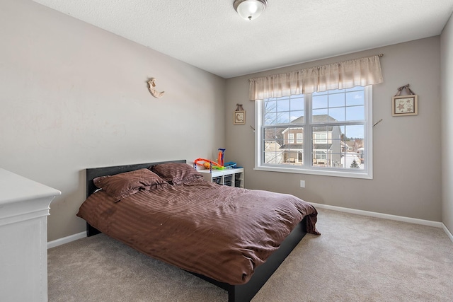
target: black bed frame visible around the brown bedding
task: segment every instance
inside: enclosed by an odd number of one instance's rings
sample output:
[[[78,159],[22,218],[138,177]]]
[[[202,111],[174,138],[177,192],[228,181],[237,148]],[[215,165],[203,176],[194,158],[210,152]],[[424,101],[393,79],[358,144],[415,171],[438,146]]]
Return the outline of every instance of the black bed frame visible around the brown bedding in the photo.
[[[151,165],[157,165],[159,163],[185,163],[185,162],[186,162],[185,160],[160,161],[156,163],[137,163],[134,165],[117,165],[103,168],[88,168],[86,169],[86,197],[88,197],[90,194],[93,194],[93,192],[96,191],[97,188],[93,183],[93,179],[99,176],[115,175],[118,173],[130,172],[132,170],[137,170],[141,168],[149,168]],[[266,260],[266,262],[263,263],[263,265],[256,267],[255,272],[253,272],[251,279],[246,284],[231,285],[214,280],[210,277],[203,276],[201,274],[196,274],[193,272],[190,273],[194,274],[197,277],[205,279],[206,281],[209,281],[210,283],[228,291],[229,302],[251,301],[253,296],[255,296],[256,293],[258,293],[258,291],[265,284],[265,282],[268,281],[270,276],[272,276],[277,267],[279,267],[280,264],[286,259],[287,255],[289,255],[289,253],[296,247],[299,241],[302,240],[302,238],[304,238],[306,234],[305,220],[306,218],[304,218],[304,220],[301,221],[296,226],[296,228],[294,228],[294,230],[289,234],[289,236],[287,236],[287,238],[285,238],[285,240],[282,242],[280,248],[273,252],[273,254],[270,255],[270,257],[268,257],[268,260]],[[101,231],[98,231],[96,228],[93,228],[93,226],[90,226],[89,223],[86,223],[86,236],[89,237],[96,235],[98,233],[101,233]]]

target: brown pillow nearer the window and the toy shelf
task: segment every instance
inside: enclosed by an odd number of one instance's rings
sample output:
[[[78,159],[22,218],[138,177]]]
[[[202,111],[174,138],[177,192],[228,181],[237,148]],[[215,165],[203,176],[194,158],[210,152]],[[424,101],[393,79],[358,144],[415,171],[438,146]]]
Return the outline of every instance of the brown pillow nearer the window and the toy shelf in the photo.
[[[161,163],[153,165],[151,170],[173,185],[180,185],[183,182],[203,178],[201,173],[187,163]]]

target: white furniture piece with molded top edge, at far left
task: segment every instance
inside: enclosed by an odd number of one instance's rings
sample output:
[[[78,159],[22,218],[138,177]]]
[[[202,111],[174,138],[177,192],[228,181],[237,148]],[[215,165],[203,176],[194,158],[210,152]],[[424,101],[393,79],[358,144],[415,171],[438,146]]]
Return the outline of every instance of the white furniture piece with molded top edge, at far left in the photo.
[[[47,215],[59,194],[0,168],[1,301],[47,301]]]

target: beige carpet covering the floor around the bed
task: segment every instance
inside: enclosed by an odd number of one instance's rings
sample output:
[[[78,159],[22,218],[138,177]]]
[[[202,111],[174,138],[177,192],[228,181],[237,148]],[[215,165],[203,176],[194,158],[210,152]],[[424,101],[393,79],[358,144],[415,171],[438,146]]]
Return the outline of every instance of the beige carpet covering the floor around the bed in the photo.
[[[258,301],[453,301],[441,228],[319,209]],[[227,301],[226,291],[104,235],[48,250],[49,301]]]

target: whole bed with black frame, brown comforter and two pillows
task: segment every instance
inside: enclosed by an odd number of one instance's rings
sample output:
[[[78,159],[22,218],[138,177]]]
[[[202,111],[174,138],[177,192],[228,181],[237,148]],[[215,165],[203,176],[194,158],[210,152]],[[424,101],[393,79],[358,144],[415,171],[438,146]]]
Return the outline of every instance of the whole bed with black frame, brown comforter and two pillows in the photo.
[[[88,168],[86,197],[77,216],[87,236],[105,233],[185,269],[229,302],[250,301],[307,232],[319,234],[302,199],[207,182],[185,160]]]

